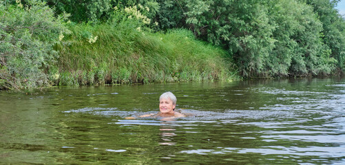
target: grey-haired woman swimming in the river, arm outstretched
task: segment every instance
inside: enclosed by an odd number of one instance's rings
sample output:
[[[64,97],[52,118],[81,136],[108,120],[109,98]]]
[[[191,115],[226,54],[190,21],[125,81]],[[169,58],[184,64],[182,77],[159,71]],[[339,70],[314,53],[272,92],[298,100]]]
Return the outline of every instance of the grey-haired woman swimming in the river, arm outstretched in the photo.
[[[182,113],[178,113],[175,111],[176,107],[176,96],[172,94],[170,91],[165,92],[164,94],[160,95],[159,97],[159,112],[158,113],[151,113],[147,115],[140,115],[139,118],[146,118],[146,117],[162,117],[164,119],[171,119],[171,118],[181,118],[185,117]],[[135,119],[134,117],[127,117],[125,119]]]

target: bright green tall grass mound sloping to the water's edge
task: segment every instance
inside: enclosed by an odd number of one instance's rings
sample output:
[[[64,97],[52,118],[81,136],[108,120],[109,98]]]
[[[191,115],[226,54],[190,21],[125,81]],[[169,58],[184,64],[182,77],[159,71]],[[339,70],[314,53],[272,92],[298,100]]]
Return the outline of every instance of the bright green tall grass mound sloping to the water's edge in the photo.
[[[56,45],[60,56],[51,77],[58,85],[163,83],[235,78],[227,53],[196,41],[188,30],[165,34],[130,23],[70,25]],[[96,39],[92,43],[92,39]],[[57,78],[58,77],[58,78]]]

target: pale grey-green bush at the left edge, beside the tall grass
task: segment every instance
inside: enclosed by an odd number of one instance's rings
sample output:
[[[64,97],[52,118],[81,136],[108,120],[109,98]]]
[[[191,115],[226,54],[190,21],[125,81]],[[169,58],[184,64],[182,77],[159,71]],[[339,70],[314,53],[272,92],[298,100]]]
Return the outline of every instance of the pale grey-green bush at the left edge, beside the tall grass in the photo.
[[[46,70],[58,56],[52,45],[67,32],[63,17],[54,17],[45,3],[0,3],[0,87],[48,85]]]

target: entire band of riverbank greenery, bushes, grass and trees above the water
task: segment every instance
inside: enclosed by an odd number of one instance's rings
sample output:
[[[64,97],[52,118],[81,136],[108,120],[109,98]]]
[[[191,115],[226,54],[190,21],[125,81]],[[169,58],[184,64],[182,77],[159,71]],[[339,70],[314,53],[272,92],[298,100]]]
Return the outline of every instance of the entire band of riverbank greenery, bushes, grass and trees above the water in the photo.
[[[327,76],[345,67],[339,0],[44,1],[50,8],[0,2],[0,87],[229,79],[234,70]]]

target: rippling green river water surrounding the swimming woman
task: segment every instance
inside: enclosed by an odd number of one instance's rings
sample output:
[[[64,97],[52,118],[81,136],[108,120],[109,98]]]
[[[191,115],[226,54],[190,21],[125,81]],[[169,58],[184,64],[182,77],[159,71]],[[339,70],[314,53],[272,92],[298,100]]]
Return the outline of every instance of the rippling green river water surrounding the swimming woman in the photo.
[[[172,91],[186,118],[158,111]],[[345,164],[345,78],[0,91],[0,164]]]

